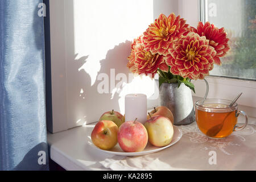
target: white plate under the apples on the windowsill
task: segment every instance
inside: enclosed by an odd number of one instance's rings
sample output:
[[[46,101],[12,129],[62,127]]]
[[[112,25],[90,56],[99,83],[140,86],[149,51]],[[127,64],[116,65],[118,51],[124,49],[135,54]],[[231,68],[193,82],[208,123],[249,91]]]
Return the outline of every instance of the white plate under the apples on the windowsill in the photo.
[[[155,147],[152,146],[149,142],[147,143],[146,148],[144,148],[141,152],[123,152],[122,148],[117,143],[111,150],[101,150],[100,148],[96,147],[92,140],[88,141],[88,144],[96,150],[102,151],[106,154],[112,154],[112,155],[125,155],[125,156],[137,156],[137,155],[146,155],[146,154],[152,154],[154,152],[158,152],[160,150],[164,150],[165,148],[171,147],[173,144],[177,143],[182,137],[182,131],[177,126],[174,126],[174,137],[172,138],[172,142],[168,144],[168,146],[164,147]]]

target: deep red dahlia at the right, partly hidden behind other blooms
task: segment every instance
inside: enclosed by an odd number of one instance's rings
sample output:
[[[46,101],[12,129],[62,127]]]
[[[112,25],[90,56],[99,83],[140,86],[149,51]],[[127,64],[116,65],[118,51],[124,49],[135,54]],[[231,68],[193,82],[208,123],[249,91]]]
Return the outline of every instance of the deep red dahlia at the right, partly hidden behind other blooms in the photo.
[[[213,58],[214,64],[221,65],[220,57],[225,56],[226,52],[230,49],[228,45],[229,39],[226,38],[224,28],[219,29],[209,22],[205,24],[199,22],[197,29],[191,27],[191,31],[196,32],[200,36],[205,36],[209,40],[209,45],[217,52],[216,56]]]

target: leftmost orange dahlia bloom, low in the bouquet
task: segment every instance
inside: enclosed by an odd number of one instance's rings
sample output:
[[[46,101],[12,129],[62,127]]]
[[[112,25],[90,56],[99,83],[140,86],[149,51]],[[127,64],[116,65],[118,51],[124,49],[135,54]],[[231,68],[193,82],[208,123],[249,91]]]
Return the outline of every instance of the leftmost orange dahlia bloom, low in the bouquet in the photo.
[[[142,36],[135,39],[131,44],[131,55],[128,57],[127,67],[131,72],[138,75],[151,75],[155,76],[158,68],[162,71],[168,72],[168,66],[164,61],[164,56],[159,54],[152,54],[145,51]]]

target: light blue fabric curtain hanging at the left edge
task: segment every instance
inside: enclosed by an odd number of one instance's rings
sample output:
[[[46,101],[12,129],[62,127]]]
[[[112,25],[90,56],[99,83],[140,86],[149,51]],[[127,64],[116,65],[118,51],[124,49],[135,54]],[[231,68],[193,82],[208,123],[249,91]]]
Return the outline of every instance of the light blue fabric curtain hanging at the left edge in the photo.
[[[42,0],[0,0],[0,170],[48,170]]]

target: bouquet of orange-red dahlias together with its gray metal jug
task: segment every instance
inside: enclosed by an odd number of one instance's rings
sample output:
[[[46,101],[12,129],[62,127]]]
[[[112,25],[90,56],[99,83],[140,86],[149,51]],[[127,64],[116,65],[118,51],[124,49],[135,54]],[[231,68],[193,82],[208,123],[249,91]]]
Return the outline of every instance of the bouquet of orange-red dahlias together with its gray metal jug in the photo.
[[[160,104],[172,111],[174,124],[186,125],[195,121],[191,80],[204,79],[214,64],[221,65],[228,41],[224,28],[209,22],[194,28],[173,13],[160,14],[134,39],[127,67],[137,75],[158,74]]]

